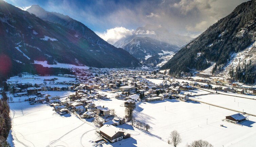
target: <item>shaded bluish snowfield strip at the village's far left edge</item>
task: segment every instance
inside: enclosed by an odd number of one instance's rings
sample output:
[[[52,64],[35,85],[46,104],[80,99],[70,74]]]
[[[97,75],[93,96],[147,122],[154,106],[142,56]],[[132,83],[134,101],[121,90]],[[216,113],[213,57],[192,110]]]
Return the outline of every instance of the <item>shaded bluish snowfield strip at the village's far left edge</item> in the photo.
[[[56,82],[63,82],[63,81],[74,81],[75,78],[68,78],[68,77],[58,77],[58,76],[35,76],[35,75],[28,75],[24,77],[18,77],[14,76],[11,77],[10,79],[7,79],[8,82],[18,82],[18,83],[31,83],[31,84],[42,84],[44,79],[52,79],[52,78],[58,78],[55,80]],[[47,81],[49,84],[50,81]]]

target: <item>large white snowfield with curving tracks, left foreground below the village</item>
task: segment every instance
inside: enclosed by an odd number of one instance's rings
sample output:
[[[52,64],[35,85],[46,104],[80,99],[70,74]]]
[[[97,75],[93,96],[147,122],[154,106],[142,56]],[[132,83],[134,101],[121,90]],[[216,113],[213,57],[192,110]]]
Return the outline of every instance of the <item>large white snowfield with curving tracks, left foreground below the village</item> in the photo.
[[[60,116],[46,104],[10,103],[16,147],[91,146],[94,127],[74,115]]]

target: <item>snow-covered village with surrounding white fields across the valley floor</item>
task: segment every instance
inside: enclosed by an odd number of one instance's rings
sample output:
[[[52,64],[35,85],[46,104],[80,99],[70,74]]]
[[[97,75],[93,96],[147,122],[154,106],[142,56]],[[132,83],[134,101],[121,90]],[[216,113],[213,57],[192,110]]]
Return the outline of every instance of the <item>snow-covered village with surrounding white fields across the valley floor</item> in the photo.
[[[151,68],[72,70],[75,75],[21,73],[6,81],[10,142],[170,146],[170,132],[176,130],[179,146],[194,140],[254,144],[256,87],[197,76],[178,79]]]

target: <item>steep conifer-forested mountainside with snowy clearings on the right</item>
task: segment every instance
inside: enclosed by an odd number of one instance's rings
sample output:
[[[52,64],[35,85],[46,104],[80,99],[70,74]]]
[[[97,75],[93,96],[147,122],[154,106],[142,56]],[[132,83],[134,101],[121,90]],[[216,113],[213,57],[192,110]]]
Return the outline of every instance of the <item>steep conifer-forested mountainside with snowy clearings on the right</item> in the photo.
[[[162,69],[180,73],[202,71],[245,83],[254,83],[256,1],[237,6],[176,53]],[[206,70],[207,69],[207,70]]]

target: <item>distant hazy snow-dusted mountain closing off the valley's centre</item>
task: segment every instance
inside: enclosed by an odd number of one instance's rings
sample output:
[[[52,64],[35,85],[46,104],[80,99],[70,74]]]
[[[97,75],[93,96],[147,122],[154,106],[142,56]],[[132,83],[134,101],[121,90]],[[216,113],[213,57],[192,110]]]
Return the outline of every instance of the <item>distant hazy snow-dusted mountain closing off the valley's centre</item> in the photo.
[[[159,59],[152,60],[151,58],[147,62],[146,60],[151,56],[159,58],[163,55],[173,54],[179,50],[180,46],[188,43],[191,39],[188,36],[171,34],[162,26],[146,25],[137,28],[132,32],[132,35],[116,41],[114,46],[125,49],[142,63],[153,61],[153,64],[156,65],[160,61]],[[108,40],[108,42],[112,43],[111,40]]]

